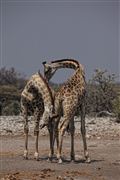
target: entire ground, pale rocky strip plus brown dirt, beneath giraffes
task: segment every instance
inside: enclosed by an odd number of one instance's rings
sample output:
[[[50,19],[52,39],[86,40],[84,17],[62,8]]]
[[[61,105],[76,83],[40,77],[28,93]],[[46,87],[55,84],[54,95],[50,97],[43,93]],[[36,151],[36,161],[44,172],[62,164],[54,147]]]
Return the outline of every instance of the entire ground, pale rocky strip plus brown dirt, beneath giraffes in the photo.
[[[35,161],[33,118],[29,118],[29,159],[23,160],[24,135],[21,116],[0,117],[0,179],[1,180],[119,180],[120,124],[114,118],[86,118],[87,144],[91,163],[84,163],[80,122],[76,122],[76,161],[70,162],[70,136],[63,143],[64,163],[47,161],[48,131],[40,131],[40,161]],[[76,119],[79,121],[79,118]]]

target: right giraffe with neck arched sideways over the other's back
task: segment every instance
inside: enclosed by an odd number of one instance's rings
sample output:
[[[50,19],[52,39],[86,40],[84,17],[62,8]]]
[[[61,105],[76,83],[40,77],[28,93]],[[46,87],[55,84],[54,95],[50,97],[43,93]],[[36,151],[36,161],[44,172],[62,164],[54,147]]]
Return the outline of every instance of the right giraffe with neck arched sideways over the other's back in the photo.
[[[83,66],[73,59],[62,59],[52,61],[51,63],[43,63],[44,74],[46,78],[51,78],[59,68],[72,68],[75,70],[74,74],[67,80],[66,83],[60,87],[55,94],[55,113],[59,117],[55,120],[56,130],[58,128],[58,144],[57,144],[57,158],[58,163],[62,163],[62,142],[63,135],[68,125],[71,132],[71,160],[75,160],[74,153],[74,116],[81,115],[81,134],[84,145],[84,156],[86,162],[90,162],[89,153],[87,151],[86,143],[86,129],[85,129],[85,72]]]

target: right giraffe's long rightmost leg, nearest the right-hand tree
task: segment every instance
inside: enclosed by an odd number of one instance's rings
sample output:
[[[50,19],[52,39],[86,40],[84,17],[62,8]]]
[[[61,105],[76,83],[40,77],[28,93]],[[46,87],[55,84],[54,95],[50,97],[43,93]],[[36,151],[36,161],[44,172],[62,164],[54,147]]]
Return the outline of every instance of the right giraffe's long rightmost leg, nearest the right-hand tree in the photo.
[[[85,129],[85,106],[84,104],[81,106],[81,134],[83,139],[83,146],[84,146],[84,156],[86,162],[90,163],[90,157],[87,150],[87,143],[86,143],[86,129]]]

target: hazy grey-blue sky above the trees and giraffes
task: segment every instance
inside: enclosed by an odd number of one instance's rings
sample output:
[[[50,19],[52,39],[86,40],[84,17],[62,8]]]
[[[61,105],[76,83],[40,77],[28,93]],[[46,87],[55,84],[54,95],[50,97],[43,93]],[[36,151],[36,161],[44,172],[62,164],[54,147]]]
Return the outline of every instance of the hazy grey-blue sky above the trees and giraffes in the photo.
[[[42,61],[74,58],[87,79],[95,68],[119,74],[120,6],[116,0],[1,0],[0,66],[31,76]],[[58,71],[64,81],[71,71]]]

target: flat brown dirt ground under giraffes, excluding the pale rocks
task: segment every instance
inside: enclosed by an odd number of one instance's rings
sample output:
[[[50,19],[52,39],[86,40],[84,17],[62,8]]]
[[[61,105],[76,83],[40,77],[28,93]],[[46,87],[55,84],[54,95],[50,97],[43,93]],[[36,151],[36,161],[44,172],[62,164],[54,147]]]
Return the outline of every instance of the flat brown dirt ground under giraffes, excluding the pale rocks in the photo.
[[[0,136],[1,180],[120,180],[119,137],[87,139],[91,163],[83,158],[80,135],[75,136],[76,161],[70,162],[70,136],[64,137],[63,164],[47,161],[48,136],[40,136],[40,160],[33,158],[34,137],[29,136],[29,159],[23,159],[24,136]]]

